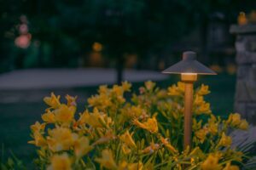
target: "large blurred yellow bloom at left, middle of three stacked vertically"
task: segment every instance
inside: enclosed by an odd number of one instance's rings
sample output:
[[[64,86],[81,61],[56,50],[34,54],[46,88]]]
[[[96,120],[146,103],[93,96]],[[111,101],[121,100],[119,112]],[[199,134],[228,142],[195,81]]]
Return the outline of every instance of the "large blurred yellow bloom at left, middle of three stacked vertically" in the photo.
[[[75,139],[78,138],[77,134],[72,133],[67,127],[56,127],[48,133],[47,143],[49,149],[53,151],[70,150]]]

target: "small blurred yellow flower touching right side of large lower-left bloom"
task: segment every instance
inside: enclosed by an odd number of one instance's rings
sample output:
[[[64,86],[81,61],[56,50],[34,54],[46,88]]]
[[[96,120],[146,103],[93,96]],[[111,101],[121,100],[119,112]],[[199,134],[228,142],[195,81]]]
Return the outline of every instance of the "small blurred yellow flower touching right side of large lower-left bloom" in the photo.
[[[84,136],[74,142],[74,152],[78,157],[86,155],[92,149],[90,140]]]

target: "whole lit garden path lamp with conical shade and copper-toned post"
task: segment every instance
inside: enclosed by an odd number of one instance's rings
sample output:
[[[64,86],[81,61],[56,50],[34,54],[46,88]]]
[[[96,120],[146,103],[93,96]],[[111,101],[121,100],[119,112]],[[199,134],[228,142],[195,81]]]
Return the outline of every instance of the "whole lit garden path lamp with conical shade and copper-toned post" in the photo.
[[[181,74],[181,80],[185,84],[183,137],[183,150],[185,150],[188,146],[191,147],[193,83],[197,80],[197,75],[216,75],[216,73],[198,62],[193,51],[184,52],[183,60],[167,68],[163,73]]]

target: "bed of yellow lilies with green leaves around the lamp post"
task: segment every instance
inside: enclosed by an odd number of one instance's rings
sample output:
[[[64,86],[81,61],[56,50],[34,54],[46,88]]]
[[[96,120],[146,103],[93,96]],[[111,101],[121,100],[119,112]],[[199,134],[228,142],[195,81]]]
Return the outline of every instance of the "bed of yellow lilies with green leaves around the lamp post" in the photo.
[[[246,130],[240,115],[222,120],[204,100],[208,86],[195,89],[193,143],[183,148],[183,82],[168,89],[145,82],[139,94],[131,84],[101,86],[76,115],[76,97],[67,103],[51,94],[42,122],[31,126],[39,169],[239,169],[245,153],[232,149],[230,129]]]

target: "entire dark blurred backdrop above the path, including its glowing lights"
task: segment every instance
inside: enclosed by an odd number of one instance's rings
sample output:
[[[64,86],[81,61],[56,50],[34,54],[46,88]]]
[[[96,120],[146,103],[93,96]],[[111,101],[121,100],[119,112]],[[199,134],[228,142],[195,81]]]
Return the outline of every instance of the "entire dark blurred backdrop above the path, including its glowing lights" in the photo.
[[[235,54],[230,24],[253,9],[245,0],[1,1],[0,71],[163,70],[188,49],[207,65],[226,66]]]

